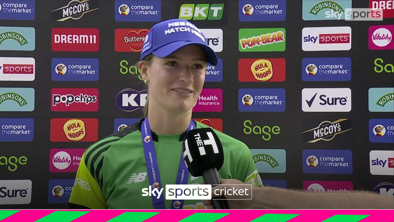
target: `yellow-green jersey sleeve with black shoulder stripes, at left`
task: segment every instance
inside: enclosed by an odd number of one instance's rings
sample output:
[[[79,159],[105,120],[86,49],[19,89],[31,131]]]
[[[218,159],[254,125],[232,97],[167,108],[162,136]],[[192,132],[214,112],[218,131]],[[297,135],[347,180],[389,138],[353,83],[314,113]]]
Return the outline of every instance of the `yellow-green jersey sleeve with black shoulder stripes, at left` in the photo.
[[[69,199],[69,208],[107,209],[103,189],[105,151],[120,138],[106,138],[89,146],[84,152]]]

